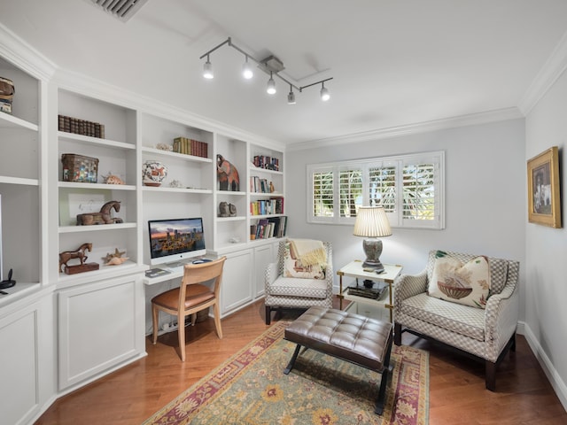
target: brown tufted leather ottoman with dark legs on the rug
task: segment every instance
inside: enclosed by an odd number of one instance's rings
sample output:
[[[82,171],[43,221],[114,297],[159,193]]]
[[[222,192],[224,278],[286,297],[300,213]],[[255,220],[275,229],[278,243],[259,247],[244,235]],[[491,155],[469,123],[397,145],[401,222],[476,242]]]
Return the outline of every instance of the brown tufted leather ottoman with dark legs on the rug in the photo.
[[[391,371],[392,323],[314,306],[285,329],[284,338],[298,344],[283,370],[285,375],[293,368],[302,345],[306,350],[312,348],[382,374],[374,412],[384,412],[386,384]]]

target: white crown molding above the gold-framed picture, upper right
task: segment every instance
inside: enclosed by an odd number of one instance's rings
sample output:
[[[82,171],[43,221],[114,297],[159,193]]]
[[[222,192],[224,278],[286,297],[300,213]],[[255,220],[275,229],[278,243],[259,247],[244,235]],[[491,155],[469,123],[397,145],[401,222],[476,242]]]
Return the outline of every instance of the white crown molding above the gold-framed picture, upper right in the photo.
[[[524,116],[532,111],[541,98],[555,84],[567,68],[567,32],[555,46],[546,63],[541,67],[540,72],[533,79],[532,84],[524,93],[518,108]]]

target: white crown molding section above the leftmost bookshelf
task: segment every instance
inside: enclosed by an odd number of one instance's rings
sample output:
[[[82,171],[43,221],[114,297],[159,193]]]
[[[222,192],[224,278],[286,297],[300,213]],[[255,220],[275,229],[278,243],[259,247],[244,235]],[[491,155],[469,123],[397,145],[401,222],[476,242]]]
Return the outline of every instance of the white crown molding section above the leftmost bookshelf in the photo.
[[[0,24],[0,57],[39,80],[49,80],[58,66]]]

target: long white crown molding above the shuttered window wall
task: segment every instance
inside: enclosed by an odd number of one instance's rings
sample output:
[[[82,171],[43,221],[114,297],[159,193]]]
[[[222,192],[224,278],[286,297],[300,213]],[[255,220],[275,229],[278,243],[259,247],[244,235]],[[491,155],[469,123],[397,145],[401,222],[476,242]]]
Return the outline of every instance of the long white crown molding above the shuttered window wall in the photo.
[[[361,143],[379,139],[400,137],[401,135],[416,135],[420,133],[444,130],[447,128],[458,128],[476,126],[495,121],[517,120],[524,118],[517,107],[504,108],[496,111],[471,113],[443,120],[431,120],[406,126],[381,128],[377,130],[353,133],[351,135],[339,135],[324,139],[316,139],[307,142],[291,143],[286,146],[286,151],[302,151],[312,148],[329,147],[342,143]]]

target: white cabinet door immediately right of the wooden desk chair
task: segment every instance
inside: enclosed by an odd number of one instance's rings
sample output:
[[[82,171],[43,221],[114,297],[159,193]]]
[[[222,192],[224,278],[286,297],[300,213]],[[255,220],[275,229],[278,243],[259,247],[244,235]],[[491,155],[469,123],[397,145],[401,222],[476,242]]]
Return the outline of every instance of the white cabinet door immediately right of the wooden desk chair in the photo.
[[[222,272],[221,314],[252,301],[252,250],[227,254]]]

